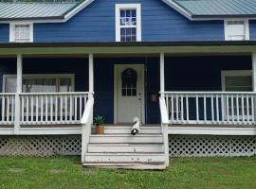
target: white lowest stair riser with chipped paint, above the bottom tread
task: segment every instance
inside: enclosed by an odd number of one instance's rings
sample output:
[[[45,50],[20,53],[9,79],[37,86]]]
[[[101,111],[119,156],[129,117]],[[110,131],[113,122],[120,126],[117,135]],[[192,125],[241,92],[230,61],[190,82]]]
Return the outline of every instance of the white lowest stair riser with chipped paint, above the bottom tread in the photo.
[[[164,153],[86,153],[85,163],[164,163]]]

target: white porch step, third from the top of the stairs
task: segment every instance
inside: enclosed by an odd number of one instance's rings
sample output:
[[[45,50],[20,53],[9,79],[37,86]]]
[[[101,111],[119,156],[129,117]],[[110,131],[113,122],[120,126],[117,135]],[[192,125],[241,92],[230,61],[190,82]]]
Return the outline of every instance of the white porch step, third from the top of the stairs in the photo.
[[[89,144],[88,152],[164,152],[163,144]]]

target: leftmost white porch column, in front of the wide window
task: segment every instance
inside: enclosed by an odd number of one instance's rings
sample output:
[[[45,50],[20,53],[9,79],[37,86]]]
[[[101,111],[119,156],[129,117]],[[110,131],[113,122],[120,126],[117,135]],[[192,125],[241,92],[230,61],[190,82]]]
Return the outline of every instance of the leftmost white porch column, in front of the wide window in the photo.
[[[15,118],[14,118],[14,134],[19,133],[20,129],[20,94],[22,93],[22,55],[17,55],[17,84],[15,94]]]

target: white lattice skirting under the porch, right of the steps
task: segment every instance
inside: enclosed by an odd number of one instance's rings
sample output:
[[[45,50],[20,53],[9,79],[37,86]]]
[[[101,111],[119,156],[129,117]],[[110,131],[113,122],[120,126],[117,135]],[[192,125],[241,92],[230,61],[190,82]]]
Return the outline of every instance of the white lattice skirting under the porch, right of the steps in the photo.
[[[170,135],[171,157],[252,156],[256,136]]]

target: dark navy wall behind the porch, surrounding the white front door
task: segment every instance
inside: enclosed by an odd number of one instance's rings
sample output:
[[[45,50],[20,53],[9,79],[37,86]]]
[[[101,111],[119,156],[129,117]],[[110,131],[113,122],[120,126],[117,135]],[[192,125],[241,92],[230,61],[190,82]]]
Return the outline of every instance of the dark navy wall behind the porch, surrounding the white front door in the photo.
[[[251,58],[237,57],[168,57],[165,64],[166,91],[221,91],[222,70],[250,70]],[[158,102],[158,58],[96,58],[95,114],[105,117],[106,124],[114,122],[114,64],[145,64],[146,121],[160,122]],[[25,74],[75,74],[76,91],[88,90],[87,60],[85,59],[25,59]],[[4,74],[15,74],[15,59],[0,59],[0,85]]]

